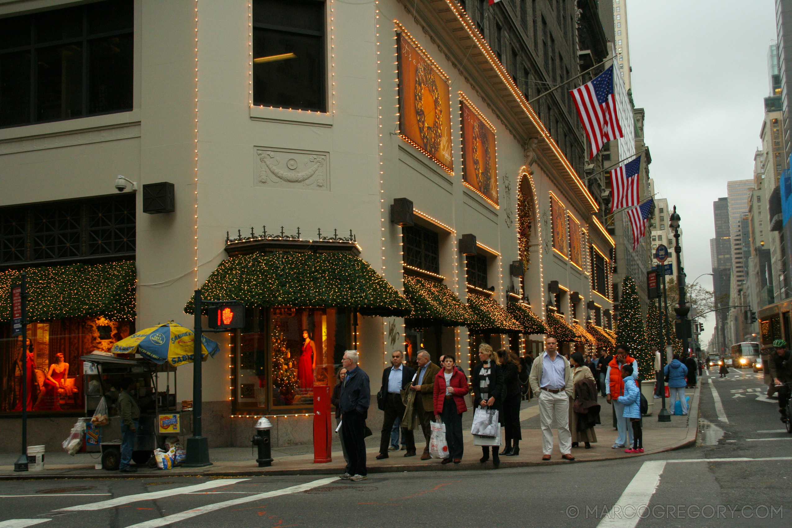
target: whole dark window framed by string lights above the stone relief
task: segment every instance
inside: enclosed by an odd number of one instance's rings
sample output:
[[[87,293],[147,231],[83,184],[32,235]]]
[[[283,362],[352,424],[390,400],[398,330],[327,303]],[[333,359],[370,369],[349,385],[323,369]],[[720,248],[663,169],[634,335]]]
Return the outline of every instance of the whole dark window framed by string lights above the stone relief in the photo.
[[[253,1],[253,104],[327,112],[325,2]]]

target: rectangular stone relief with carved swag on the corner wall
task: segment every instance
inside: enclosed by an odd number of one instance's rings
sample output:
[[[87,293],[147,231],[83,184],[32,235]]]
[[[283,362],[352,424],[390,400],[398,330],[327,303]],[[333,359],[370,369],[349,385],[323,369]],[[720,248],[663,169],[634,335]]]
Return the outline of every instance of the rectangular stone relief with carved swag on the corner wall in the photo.
[[[328,153],[257,148],[256,185],[329,191]]]

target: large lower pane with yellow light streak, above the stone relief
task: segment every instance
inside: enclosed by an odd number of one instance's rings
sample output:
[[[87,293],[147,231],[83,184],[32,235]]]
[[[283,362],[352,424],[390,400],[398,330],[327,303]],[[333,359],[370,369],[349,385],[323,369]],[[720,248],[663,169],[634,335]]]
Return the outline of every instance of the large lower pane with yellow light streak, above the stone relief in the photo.
[[[254,28],[253,57],[294,57],[253,63],[253,104],[325,112],[324,37]]]

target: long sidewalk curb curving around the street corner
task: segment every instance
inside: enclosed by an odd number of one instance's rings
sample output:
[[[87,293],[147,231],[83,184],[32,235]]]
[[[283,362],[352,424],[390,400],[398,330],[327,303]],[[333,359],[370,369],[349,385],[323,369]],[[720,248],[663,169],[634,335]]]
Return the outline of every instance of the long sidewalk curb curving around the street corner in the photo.
[[[695,446],[696,439],[699,434],[699,393],[701,392],[701,379],[696,384],[695,393],[693,393],[693,397],[691,398],[691,405],[690,411],[687,415],[687,435],[685,439],[679,443],[673,444],[672,446],[663,447],[660,449],[655,449],[651,451],[646,451],[642,454],[630,454],[630,455],[619,455],[619,456],[611,456],[611,457],[597,457],[597,458],[586,458],[585,460],[575,460],[574,462],[568,462],[564,460],[551,460],[549,462],[512,462],[512,461],[505,461],[501,458],[501,465],[499,465],[499,469],[511,469],[511,468],[527,468],[527,467],[536,467],[536,466],[547,466],[547,465],[562,465],[562,464],[575,464],[577,462],[605,462],[608,460],[624,460],[626,458],[637,458],[637,457],[644,457],[648,454],[657,454],[657,453],[664,453],[668,451],[676,451],[680,449],[685,449],[686,447]],[[450,464],[450,465],[441,465],[440,462],[436,464],[426,464],[426,465],[385,465],[385,466],[374,466],[368,468],[368,473],[406,473],[406,472],[416,472],[416,471],[470,471],[473,469],[495,469],[493,467],[492,462],[486,462],[485,464],[481,464],[480,462],[462,462],[460,464]],[[278,477],[278,476],[291,476],[291,475],[334,475],[337,474],[341,468],[311,468],[311,469],[244,469],[240,471],[211,471],[211,469],[201,472],[201,473],[177,473],[177,470],[170,469],[168,473],[135,473],[132,475],[129,474],[120,474],[120,473],[108,473],[108,474],[95,474],[95,473],[85,473],[85,474],[58,474],[58,475],[0,475],[0,481],[51,481],[51,480],[63,480],[63,479],[140,479],[140,478],[162,478],[162,477],[220,477],[220,478],[229,478],[229,477]]]

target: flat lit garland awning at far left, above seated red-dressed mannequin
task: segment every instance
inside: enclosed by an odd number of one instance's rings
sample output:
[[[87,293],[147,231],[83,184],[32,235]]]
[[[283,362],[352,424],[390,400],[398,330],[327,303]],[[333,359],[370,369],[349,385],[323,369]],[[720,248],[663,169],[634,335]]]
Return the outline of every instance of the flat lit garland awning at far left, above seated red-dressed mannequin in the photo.
[[[11,284],[22,270],[0,272],[0,321],[11,321]],[[25,268],[28,321],[104,316],[135,319],[135,261]]]

